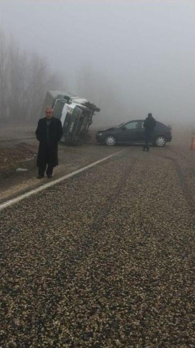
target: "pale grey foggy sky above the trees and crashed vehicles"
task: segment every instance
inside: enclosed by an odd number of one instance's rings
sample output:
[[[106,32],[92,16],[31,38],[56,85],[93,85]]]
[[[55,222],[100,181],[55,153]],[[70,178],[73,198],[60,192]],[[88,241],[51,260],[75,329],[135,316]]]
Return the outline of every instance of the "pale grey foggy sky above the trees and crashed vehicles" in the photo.
[[[148,112],[193,124],[194,10],[190,0],[1,0],[0,27],[47,60],[59,89],[101,108],[94,125]]]

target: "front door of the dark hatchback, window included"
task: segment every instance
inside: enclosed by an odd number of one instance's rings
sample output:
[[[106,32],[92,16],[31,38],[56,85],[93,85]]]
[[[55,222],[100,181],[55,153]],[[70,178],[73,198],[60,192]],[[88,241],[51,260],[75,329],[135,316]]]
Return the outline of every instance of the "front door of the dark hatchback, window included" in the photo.
[[[138,132],[139,132],[140,122],[139,121],[130,121],[121,127],[121,142],[124,143],[133,143],[138,141]]]

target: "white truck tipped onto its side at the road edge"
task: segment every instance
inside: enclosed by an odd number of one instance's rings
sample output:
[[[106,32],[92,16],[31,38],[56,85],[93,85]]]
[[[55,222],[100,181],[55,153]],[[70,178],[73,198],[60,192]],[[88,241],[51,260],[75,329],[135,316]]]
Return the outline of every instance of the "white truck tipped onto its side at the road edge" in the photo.
[[[92,124],[92,117],[100,109],[87,99],[62,91],[48,91],[43,103],[41,117],[44,110],[51,106],[54,117],[62,122],[62,141],[66,144],[79,145],[87,140],[87,132]]]

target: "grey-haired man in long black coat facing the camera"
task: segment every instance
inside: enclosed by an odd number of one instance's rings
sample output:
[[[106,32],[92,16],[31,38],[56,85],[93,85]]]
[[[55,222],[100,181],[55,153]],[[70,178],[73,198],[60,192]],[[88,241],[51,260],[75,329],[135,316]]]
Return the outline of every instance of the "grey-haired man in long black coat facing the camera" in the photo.
[[[36,129],[36,139],[39,140],[39,152],[36,165],[39,167],[38,179],[44,173],[52,177],[53,168],[58,165],[58,141],[63,134],[61,121],[53,117],[53,110],[46,108],[46,117],[41,118]]]

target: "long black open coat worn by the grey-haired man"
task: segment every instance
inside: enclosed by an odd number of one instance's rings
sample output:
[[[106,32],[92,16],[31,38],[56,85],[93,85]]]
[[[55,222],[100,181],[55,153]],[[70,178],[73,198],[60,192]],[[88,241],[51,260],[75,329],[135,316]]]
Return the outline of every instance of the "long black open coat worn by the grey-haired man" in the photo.
[[[40,167],[43,163],[50,163],[55,167],[58,165],[58,141],[63,134],[62,123],[55,117],[51,118],[49,124],[49,139],[47,140],[46,117],[41,118],[36,128],[36,139],[39,140],[39,152],[36,165]],[[49,160],[46,158],[49,155]]]

